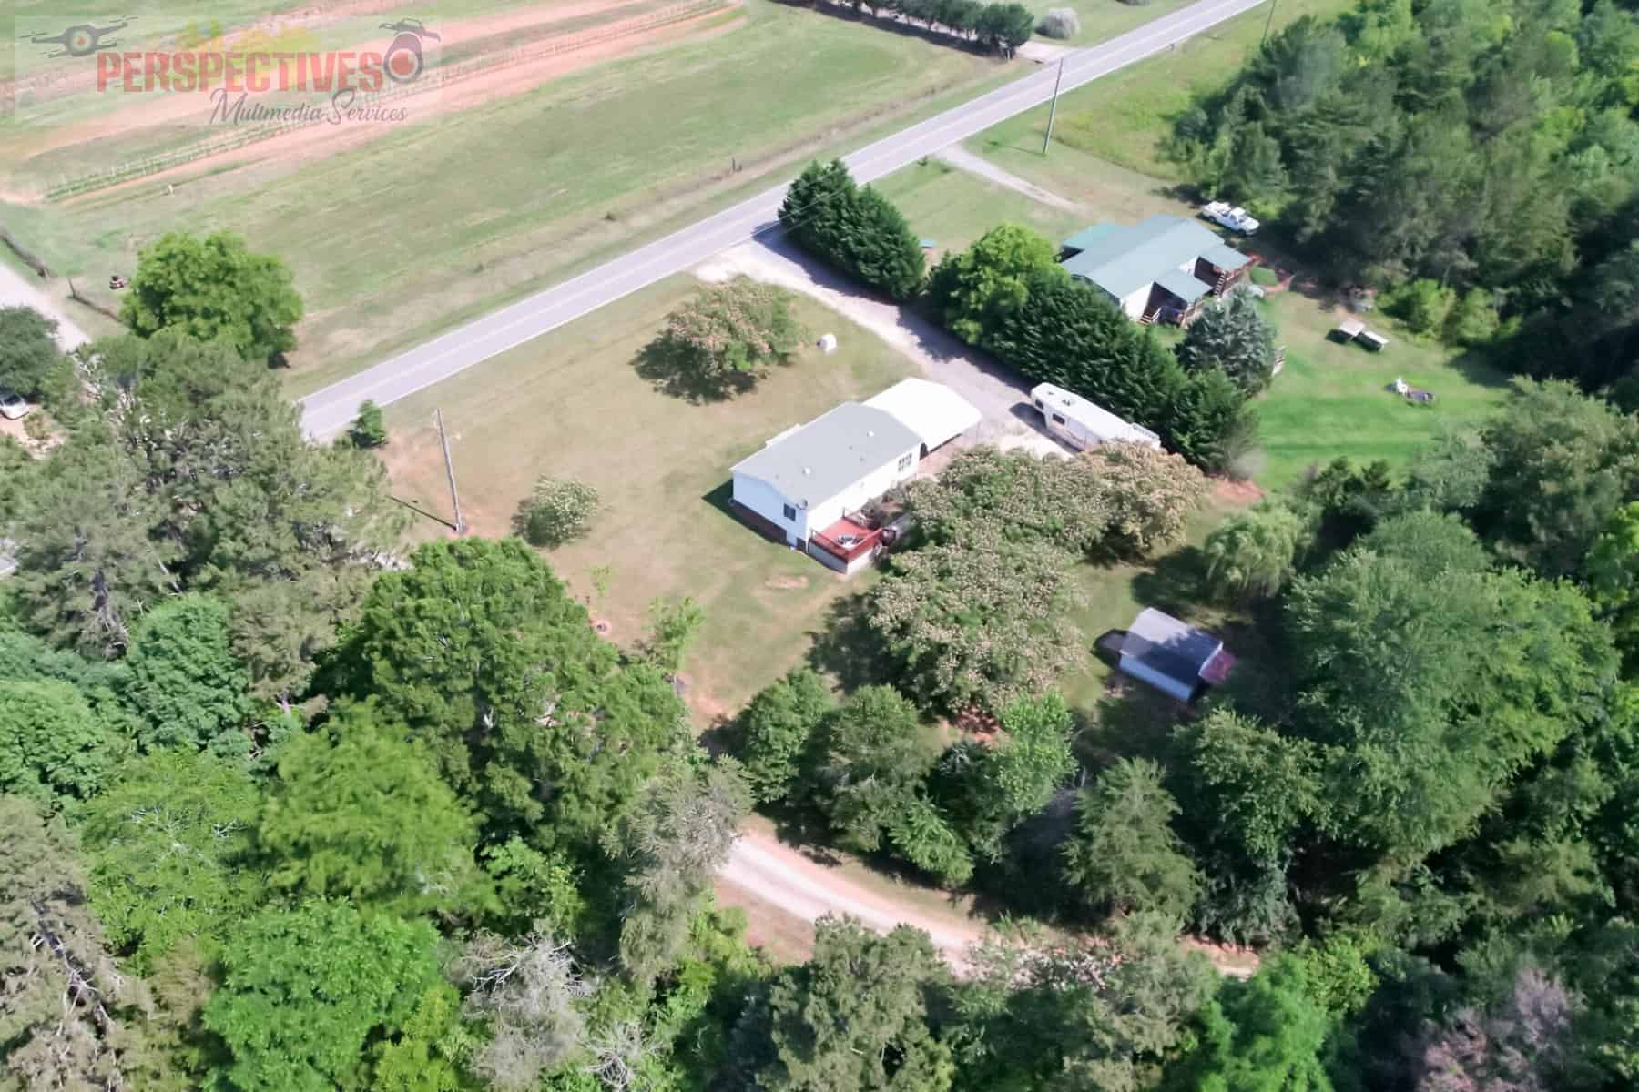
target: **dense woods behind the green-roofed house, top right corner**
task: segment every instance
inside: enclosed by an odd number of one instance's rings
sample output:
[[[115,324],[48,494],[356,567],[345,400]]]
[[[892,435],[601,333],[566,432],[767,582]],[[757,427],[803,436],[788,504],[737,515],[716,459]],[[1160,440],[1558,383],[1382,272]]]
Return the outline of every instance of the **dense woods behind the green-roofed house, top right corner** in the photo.
[[[1413,329],[1636,408],[1636,59],[1611,0],[1362,0],[1270,38],[1170,151]]]

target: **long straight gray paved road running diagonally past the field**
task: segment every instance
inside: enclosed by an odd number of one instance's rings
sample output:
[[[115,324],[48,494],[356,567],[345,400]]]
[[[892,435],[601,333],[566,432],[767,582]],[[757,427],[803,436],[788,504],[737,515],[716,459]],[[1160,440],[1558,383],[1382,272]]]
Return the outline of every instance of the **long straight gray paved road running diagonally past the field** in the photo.
[[[1198,0],[1100,46],[1065,54],[1064,90],[1090,83],[1134,61],[1169,49],[1262,2]],[[998,121],[1047,102],[1052,97],[1056,75],[1057,65],[1046,65],[1021,80],[869,144],[846,157],[849,170],[860,182],[872,182],[923,156],[965,141]],[[697,265],[718,250],[770,231],[777,226],[775,213],[783,196],[785,187],[774,187],[580,277],[315,391],[302,399],[303,424],[315,437],[334,435],[354,417],[365,398],[382,406],[398,401],[605,303]]]

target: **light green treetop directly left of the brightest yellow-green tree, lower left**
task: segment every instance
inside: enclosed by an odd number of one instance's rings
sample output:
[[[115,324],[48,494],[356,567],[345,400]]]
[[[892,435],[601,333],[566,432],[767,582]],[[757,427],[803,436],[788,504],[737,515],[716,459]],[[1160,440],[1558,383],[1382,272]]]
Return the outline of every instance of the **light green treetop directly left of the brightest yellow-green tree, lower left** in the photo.
[[[197,751],[126,761],[82,810],[92,905],[138,969],[190,943],[210,954],[262,902],[259,786]]]

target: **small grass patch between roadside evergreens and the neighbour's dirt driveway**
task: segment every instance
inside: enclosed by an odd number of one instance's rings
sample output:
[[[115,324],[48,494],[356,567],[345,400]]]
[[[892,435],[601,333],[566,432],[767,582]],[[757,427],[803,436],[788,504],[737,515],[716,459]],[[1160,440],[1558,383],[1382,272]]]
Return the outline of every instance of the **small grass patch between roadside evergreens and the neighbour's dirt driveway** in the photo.
[[[939,244],[939,254],[962,250],[1001,223],[1028,224],[1049,239],[1062,239],[1087,219],[939,159],[911,164],[872,185],[905,213],[919,237]]]

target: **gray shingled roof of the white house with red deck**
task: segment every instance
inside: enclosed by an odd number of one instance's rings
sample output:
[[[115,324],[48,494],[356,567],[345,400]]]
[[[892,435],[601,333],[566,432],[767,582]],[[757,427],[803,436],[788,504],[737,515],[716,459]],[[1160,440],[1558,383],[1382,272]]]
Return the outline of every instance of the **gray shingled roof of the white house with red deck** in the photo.
[[[919,449],[921,439],[893,414],[846,401],[734,463],[734,473],[767,481],[797,504],[818,504]]]

